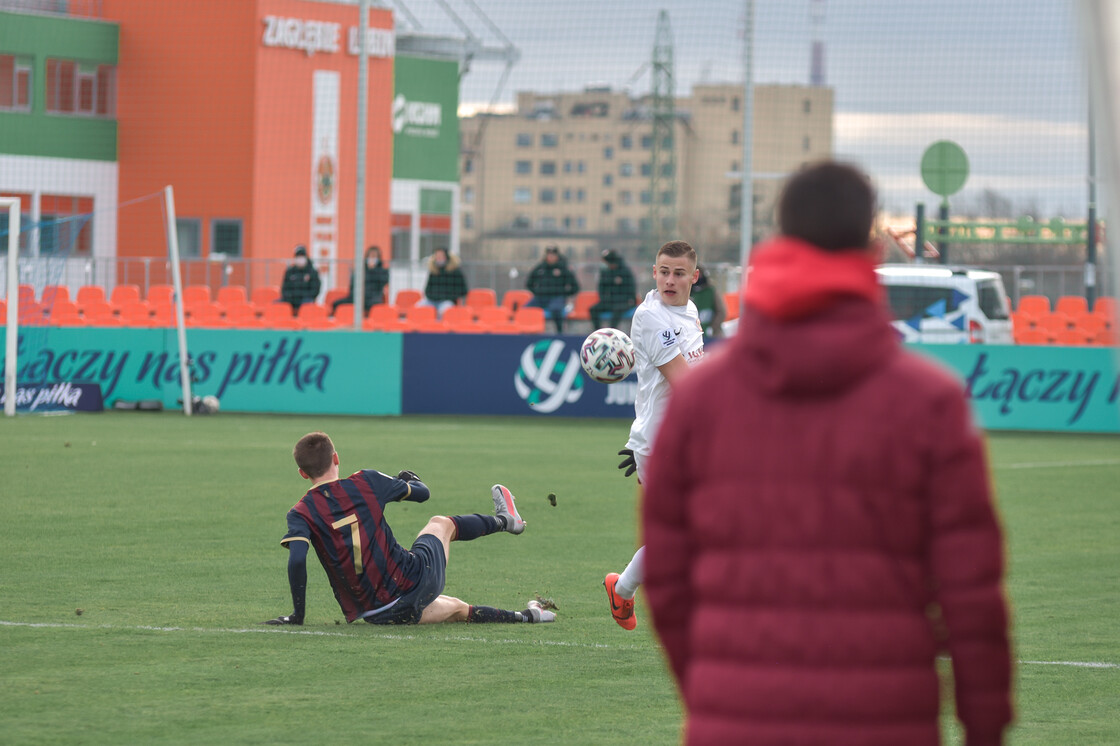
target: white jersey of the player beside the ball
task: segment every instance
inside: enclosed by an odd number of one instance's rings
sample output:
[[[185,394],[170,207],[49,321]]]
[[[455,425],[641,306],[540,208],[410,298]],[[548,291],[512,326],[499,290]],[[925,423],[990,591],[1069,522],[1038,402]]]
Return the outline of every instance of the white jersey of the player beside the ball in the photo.
[[[669,381],[657,366],[678,355],[683,355],[689,365],[703,357],[703,329],[696,304],[689,300],[684,306],[666,306],[661,301],[661,293],[651,290],[634,311],[631,338],[636,352],[637,397],[626,447],[634,450],[641,465],[653,450],[653,437],[669,401]],[[640,468],[638,478],[641,472]]]

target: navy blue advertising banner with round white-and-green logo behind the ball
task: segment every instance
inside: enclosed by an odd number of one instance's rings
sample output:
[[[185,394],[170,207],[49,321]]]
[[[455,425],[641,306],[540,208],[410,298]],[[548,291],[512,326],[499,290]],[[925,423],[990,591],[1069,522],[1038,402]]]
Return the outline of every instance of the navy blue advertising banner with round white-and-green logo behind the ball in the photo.
[[[579,365],[581,336],[408,334],[405,414],[634,417],[637,377],[607,385]]]

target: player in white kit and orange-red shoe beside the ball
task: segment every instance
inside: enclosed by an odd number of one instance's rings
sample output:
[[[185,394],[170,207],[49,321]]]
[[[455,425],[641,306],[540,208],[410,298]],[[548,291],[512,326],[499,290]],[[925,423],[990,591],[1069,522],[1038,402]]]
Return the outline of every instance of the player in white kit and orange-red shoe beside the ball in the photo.
[[[689,299],[699,277],[696,250],[684,241],[670,241],[657,250],[654,260],[653,279],[657,288],[634,311],[631,338],[636,352],[637,398],[629,440],[618,451],[626,458],[618,468],[626,469],[626,476],[636,470],[640,485],[670,389],[688,372],[689,365],[703,357],[703,329],[697,307]],[[603,581],[610,615],[624,630],[637,625],[634,594],[642,585],[644,550],[644,547],[637,550],[620,575],[612,572]]]

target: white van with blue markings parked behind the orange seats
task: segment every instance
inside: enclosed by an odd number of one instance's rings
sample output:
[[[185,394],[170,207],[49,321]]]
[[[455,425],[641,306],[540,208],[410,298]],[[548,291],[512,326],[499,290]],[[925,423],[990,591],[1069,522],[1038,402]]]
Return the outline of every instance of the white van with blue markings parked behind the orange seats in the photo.
[[[998,272],[941,264],[883,264],[876,272],[904,342],[1014,344]]]

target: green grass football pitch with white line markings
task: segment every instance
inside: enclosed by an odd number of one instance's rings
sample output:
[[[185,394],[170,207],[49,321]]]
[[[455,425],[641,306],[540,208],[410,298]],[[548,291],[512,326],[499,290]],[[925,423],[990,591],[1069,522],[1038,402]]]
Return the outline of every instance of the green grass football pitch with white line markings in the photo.
[[[627,633],[601,581],[636,540],[628,422],[104,413],[0,422],[0,742],[673,744],[681,710],[644,607]],[[332,435],[345,473],[410,468],[433,513],[491,512],[520,537],[454,544],[447,593],[551,625],[346,625],[317,563],[290,610],[291,446]],[[992,435],[1008,539],[1012,744],[1120,734],[1120,438]],[[548,494],[557,495],[552,506]],[[1077,665],[1074,665],[1077,664]],[[946,666],[948,668],[948,666]],[[946,743],[960,743],[946,686]]]

